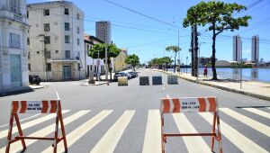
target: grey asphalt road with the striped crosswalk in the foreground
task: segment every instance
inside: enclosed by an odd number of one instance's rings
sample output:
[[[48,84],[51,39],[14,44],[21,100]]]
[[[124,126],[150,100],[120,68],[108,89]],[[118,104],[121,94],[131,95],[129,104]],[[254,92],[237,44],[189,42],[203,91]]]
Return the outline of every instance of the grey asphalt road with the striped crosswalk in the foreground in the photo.
[[[64,113],[68,152],[158,152],[160,99],[194,96],[218,97],[223,152],[270,151],[269,101],[182,79],[178,79],[178,85],[167,85],[165,74],[139,70],[139,76],[156,75],[162,76],[163,85],[151,85],[151,79],[150,85],[139,85],[139,77],[129,80],[127,86],[118,86],[116,82],[110,85],[85,85],[85,81],[49,82],[31,93],[0,97],[0,152],[4,152],[6,144],[8,126],[5,124],[9,120],[11,102],[55,99],[56,92],[62,109],[69,110]],[[20,114],[20,119],[25,135],[53,135],[55,120],[48,115]],[[165,130],[210,132],[210,119],[209,113],[166,115]],[[49,128],[49,125],[52,126]],[[166,152],[208,152],[210,142],[207,137],[168,138]],[[26,152],[51,152],[51,141],[26,140],[26,143]],[[22,147],[16,143],[11,148],[11,152],[16,152]],[[215,150],[218,150],[218,143],[215,143]]]

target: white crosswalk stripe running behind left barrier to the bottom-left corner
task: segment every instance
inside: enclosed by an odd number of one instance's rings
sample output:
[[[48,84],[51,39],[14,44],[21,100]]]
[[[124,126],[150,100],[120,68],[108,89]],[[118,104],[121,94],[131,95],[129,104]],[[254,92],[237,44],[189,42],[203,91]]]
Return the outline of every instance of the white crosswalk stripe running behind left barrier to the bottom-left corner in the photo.
[[[69,124],[70,122],[76,121],[78,118],[84,116],[87,112],[90,112],[90,111],[89,110],[84,110],[84,111],[76,112],[75,114],[65,118],[64,119],[65,126],[67,126],[67,124]],[[49,126],[44,127],[43,129],[32,133],[28,137],[45,137],[45,136],[49,135],[50,133],[54,133],[54,130],[55,130],[55,123],[50,124]],[[60,130],[58,130],[58,131],[59,131],[59,133],[61,135],[61,131]],[[34,143],[35,141],[37,141],[37,139],[27,139],[27,140],[25,140],[25,144],[26,144],[26,146],[29,146],[32,143]],[[51,141],[51,143],[53,143],[53,141]],[[61,141],[61,143],[63,143],[63,141]],[[22,148],[23,148],[23,146],[22,146],[21,141],[17,141],[17,142],[14,142],[11,145],[10,152],[18,152]],[[0,152],[4,152],[4,150],[5,150],[5,147],[1,148]]]

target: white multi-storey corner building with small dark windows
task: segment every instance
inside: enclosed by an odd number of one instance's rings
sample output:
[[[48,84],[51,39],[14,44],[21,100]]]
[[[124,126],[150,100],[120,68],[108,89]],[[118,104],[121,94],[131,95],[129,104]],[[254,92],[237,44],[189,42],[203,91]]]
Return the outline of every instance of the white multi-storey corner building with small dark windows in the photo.
[[[43,80],[85,77],[84,13],[75,4],[28,4],[31,74]]]

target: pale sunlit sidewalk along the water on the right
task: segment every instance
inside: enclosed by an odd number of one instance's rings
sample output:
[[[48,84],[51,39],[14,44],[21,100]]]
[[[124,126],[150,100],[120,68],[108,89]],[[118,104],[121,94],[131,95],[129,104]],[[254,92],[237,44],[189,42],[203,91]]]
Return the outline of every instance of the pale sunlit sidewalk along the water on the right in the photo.
[[[173,72],[163,71],[160,69],[156,69],[157,71],[166,73],[166,74],[174,74]],[[238,93],[238,94],[246,94],[249,96],[254,96],[260,99],[264,99],[270,101],[270,84],[256,81],[242,81],[242,87],[240,88],[240,81],[233,79],[220,79],[217,81],[211,80],[211,77],[194,77],[191,74],[186,73],[175,73],[175,75],[183,78],[187,81],[191,81],[201,85],[209,85],[212,87],[220,88],[222,90],[227,90],[230,92]]]

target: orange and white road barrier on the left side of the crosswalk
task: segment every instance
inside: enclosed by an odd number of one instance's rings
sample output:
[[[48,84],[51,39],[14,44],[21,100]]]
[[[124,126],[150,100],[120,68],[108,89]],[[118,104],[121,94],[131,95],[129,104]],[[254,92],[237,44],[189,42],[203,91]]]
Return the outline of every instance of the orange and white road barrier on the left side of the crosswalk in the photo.
[[[23,135],[23,130],[21,128],[21,123],[19,120],[18,113],[56,113],[56,127],[54,131],[54,137],[52,138],[41,138],[41,137],[26,137]],[[12,139],[12,132],[13,132],[13,125],[14,119],[17,124],[17,128],[19,131],[19,136],[14,137]],[[58,122],[60,122],[62,137],[58,138]],[[5,148],[5,153],[9,153],[11,144],[21,140],[23,145],[23,151],[26,149],[24,139],[43,139],[43,140],[53,140],[52,147],[53,152],[57,152],[57,145],[58,143],[63,140],[65,152],[67,152],[67,139],[66,139],[66,132],[65,126],[63,122],[62,116],[62,109],[60,100],[43,100],[43,101],[13,101],[12,102],[12,109],[9,121],[9,130],[7,136],[7,145]]]

